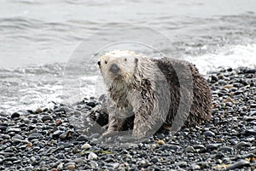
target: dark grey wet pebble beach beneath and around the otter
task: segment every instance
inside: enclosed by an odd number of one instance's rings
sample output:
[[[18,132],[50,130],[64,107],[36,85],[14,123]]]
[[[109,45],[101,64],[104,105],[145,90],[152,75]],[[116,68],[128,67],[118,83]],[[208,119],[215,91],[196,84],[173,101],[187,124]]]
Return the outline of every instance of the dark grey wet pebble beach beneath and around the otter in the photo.
[[[1,113],[0,170],[255,170],[256,69],[219,69],[208,83],[210,123],[122,147],[97,143],[106,118],[94,99]]]

